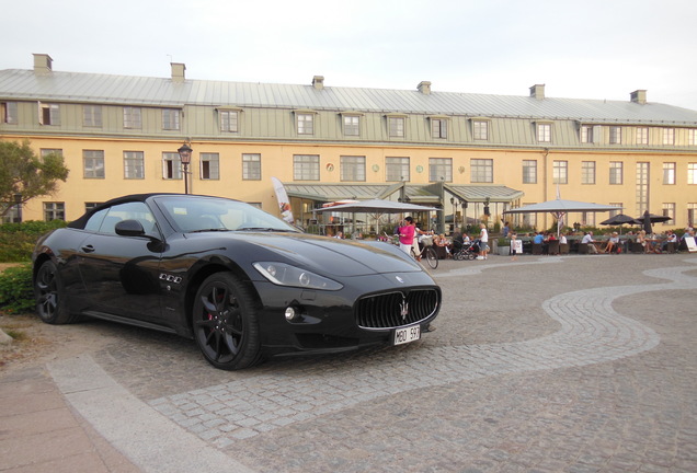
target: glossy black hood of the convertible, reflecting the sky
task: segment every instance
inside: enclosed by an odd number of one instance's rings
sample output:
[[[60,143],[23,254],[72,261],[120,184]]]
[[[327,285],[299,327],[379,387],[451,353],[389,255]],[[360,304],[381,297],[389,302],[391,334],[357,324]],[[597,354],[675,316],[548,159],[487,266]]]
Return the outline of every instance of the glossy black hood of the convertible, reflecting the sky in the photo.
[[[292,261],[320,274],[336,276],[423,270],[397,246],[385,242],[358,242],[307,233],[275,232],[231,232],[226,233],[224,238],[235,241],[230,243],[236,246],[236,253],[248,252],[251,263],[268,261],[273,256],[270,253],[274,253],[281,261]],[[244,249],[248,245],[250,247]]]

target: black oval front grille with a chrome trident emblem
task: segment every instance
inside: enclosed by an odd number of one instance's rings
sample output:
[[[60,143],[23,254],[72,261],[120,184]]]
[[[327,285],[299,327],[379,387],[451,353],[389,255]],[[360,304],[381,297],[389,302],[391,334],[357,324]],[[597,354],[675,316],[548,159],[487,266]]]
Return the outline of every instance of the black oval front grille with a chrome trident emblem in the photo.
[[[363,328],[390,328],[421,322],[439,304],[435,289],[414,289],[365,297],[356,303],[356,323]]]

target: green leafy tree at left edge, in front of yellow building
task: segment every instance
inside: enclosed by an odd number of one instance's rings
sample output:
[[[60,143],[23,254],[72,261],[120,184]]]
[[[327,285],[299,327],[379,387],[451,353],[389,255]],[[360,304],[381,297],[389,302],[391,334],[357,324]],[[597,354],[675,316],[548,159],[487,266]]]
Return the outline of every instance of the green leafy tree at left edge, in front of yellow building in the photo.
[[[0,217],[18,204],[34,197],[53,195],[58,181],[66,182],[70,171],[58,153],[37,157],[30,141],[0,141]]]

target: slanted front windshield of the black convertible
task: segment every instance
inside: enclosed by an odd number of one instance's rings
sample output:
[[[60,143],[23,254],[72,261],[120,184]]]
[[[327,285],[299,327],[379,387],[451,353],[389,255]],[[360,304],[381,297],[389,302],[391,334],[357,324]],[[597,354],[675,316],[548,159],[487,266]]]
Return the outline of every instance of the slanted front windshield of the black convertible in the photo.
[[[168,220],[185,233],[298,231],[279,218],[242,201],[202,196],[159,196],[155,201]]]

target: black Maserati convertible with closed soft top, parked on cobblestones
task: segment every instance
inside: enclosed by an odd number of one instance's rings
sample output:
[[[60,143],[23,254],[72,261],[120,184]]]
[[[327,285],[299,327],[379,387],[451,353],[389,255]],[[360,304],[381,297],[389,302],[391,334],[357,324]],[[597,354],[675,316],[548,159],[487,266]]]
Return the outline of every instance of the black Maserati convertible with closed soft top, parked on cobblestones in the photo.
[[[416,341],[441,288],[396,246],[298,231],[251,205],[180,194],[110,200],[44,235],[38,315],[195,338],[215,367]]]

